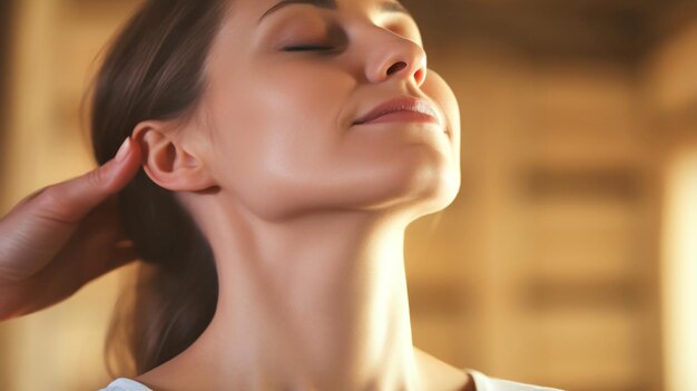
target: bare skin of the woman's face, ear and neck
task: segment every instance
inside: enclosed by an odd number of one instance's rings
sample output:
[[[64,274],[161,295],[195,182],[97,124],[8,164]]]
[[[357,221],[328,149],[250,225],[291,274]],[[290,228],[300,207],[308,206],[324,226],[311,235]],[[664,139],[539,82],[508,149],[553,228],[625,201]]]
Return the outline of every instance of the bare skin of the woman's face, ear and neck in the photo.
[[[454,96],[396,4],[277,3],[235,1],[197,118],[134,131],[147,174],[178,193],[212,244],[220,286],[204,334],[136,380],[177,391],[467,389],[463,371],[412,345],[403,254],[406,226],[460,185]],[[360,124],[395,97],[421,99],[434,120]]]

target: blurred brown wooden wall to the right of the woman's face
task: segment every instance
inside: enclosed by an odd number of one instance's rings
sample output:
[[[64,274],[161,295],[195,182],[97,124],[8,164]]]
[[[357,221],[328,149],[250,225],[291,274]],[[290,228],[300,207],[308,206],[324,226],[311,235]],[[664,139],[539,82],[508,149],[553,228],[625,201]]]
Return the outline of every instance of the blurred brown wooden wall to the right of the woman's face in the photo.
[[[695,4],[444,4],[416,16],[460,98],[463,188],[408,242],[416,344],[569,390],[693,389],[660,237],[697,134]]]

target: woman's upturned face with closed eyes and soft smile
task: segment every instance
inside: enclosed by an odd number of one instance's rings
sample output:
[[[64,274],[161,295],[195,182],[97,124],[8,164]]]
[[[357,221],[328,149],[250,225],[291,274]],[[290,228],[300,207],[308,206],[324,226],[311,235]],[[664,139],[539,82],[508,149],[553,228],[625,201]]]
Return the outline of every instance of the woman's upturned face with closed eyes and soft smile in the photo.
[[[458,105],[395,1],[235,0],[206,76],[205,165],[259,216],[423,215],[458,192]]]

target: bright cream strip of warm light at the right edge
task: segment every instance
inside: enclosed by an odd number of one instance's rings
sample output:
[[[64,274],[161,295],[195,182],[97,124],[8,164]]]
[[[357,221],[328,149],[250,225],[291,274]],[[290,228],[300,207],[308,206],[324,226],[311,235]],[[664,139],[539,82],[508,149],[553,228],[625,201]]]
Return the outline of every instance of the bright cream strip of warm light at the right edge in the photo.
[[[668,167],[664,229],[666,390],[697,390],[697,148]]]

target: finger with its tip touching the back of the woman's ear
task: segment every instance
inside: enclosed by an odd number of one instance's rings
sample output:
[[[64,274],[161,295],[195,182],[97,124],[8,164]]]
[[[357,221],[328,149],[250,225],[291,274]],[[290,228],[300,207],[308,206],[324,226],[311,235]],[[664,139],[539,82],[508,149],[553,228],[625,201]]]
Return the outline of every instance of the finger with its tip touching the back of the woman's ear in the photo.
[[[79,222],[134,178],[141,166],[140,155],[137,143],[127,138],[117,155],[102,166],[39,193],[35,197],[36,212],[56,221]]]

